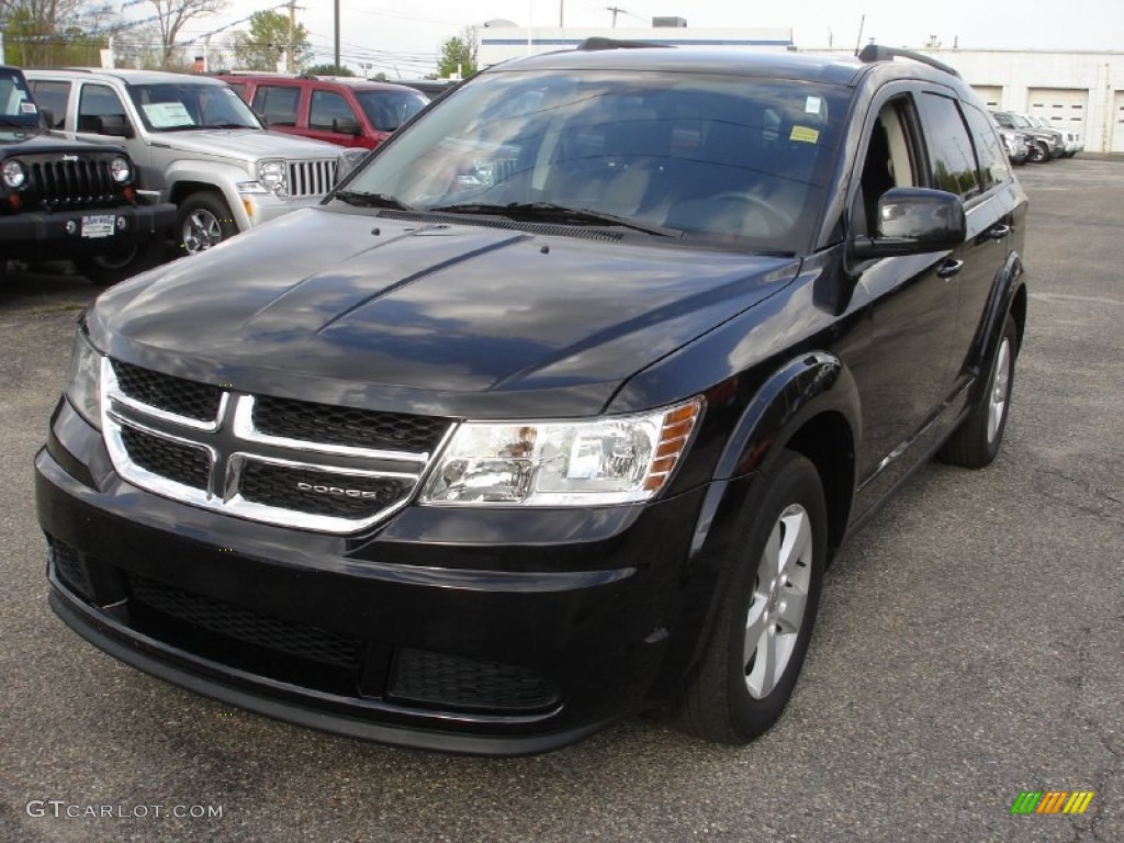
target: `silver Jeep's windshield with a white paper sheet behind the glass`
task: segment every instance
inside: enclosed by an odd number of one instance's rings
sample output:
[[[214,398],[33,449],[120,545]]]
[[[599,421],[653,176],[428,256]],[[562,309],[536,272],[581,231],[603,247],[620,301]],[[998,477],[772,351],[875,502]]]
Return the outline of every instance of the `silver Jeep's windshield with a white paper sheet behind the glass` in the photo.
[[[226,85],[170,82],[129,85],[149,132],[260,129],[254,112]]]

